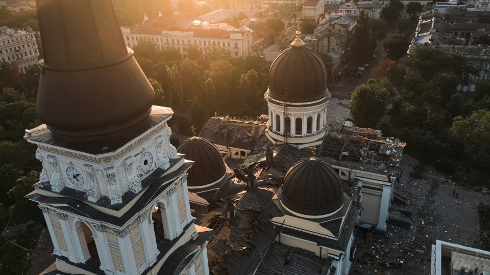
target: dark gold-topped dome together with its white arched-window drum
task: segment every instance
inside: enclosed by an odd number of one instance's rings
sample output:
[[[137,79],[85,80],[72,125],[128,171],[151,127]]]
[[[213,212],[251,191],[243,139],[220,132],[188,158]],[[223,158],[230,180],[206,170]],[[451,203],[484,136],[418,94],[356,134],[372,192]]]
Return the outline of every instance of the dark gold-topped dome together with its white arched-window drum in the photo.
[[[264,94],[270,114],[266,135],[275,144],[304,148],[322,143],[331,95],[322,59],[305,47],[299,31],[296,34],[269,70],[269,89]]]

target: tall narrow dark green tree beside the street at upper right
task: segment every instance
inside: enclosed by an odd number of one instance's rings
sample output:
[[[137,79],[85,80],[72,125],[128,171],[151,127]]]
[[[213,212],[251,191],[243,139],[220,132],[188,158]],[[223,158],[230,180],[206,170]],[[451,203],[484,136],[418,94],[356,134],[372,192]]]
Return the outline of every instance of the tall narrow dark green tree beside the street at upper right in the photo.
[[[351,46],[351,56],[353,60],[350,63],[354,65],[364,65],[373,56],[376,48],[376,38],[371,33],[371,24],[369,15],[361,10],[357,16],[356,30]]]

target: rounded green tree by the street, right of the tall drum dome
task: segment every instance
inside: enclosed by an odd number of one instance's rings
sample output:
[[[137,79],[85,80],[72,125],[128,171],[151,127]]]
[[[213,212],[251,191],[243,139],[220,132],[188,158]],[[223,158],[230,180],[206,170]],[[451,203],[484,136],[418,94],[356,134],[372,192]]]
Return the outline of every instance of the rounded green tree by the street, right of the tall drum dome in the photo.
[[[376,81],[367,81],[356,87],[349,105],[356,126],[374,128],[386,112],[389,104],[389,92]]]

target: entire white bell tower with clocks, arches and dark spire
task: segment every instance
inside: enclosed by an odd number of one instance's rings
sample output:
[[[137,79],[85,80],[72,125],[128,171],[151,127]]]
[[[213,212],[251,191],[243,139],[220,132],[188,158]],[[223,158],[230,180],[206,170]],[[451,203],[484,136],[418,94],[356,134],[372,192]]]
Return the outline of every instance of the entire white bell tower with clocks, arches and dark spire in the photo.
[[[193,162],[170,144],[173,111],[152,106],[111,0],[36,4],[44,50],[36,112],[45,124],[24,138],[43,169],[26,197],[43,212],[57,270],[209,274],[207,234],[190,214]]]

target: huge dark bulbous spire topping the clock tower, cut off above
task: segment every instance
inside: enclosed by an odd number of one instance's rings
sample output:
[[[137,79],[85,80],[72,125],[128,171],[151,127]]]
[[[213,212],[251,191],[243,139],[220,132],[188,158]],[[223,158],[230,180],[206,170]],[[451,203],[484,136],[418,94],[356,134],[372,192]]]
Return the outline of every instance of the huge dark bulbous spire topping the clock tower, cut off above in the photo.
[[[126,48],[111,0],[37,0],[44,60],[36,103],[58,137],[95,139],[150,114],[155,93]]]

